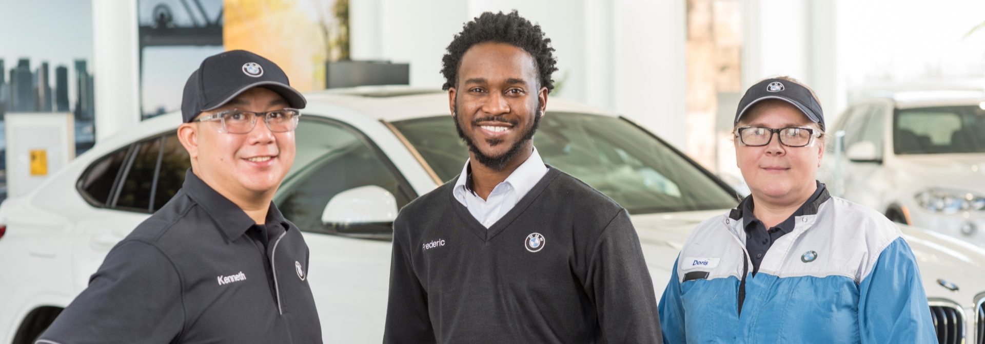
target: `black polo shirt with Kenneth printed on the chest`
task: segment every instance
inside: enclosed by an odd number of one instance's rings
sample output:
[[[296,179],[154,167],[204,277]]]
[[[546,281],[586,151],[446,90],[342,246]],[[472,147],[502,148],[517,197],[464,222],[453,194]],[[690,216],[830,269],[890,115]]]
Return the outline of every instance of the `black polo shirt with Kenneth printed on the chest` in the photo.
[[[38,343],[320,343],[307,267],[273,202],[258,226],[189,169]]]

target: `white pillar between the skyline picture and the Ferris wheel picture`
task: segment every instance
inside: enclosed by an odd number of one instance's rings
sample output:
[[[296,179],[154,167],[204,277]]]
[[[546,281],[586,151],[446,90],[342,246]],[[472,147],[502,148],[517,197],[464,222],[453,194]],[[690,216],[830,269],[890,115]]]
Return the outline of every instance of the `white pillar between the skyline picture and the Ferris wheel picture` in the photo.
[[[137,0],[93,0],[96,142],[140,121]]]

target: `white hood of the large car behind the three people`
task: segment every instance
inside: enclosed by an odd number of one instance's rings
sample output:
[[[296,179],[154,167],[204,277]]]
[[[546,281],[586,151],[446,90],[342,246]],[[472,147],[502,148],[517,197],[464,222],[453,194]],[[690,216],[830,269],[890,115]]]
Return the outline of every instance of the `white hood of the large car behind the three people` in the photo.
[[[657,296],[663,294],[671,269],[690,231],[727,209],[632,215],[643,255],[650,268]],[[970,271],[985,270],[985,250],[931,231],[900,225],[903,238],[913,249],[929,298],[944,298],[969,308],[975,294],[985,291],[985,277]],[[952,292],[938,283],[943,279],[957,285]]]

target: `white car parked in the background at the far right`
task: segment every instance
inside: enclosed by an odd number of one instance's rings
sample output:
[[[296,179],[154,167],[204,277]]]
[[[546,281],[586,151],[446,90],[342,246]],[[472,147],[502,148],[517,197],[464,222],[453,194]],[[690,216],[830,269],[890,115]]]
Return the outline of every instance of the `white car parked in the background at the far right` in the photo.
[[[834,195],[985,248],[985,93],[896,91],[855,102],[828,133]]]

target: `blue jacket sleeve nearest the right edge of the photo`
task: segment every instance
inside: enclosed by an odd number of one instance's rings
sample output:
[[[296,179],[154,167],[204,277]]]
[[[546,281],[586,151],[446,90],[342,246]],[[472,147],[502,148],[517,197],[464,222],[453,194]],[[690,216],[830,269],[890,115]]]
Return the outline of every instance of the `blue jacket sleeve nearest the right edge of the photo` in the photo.
[[[937,343],[916,258],[903,238],[862,279],[858,313],[862,343]]]

